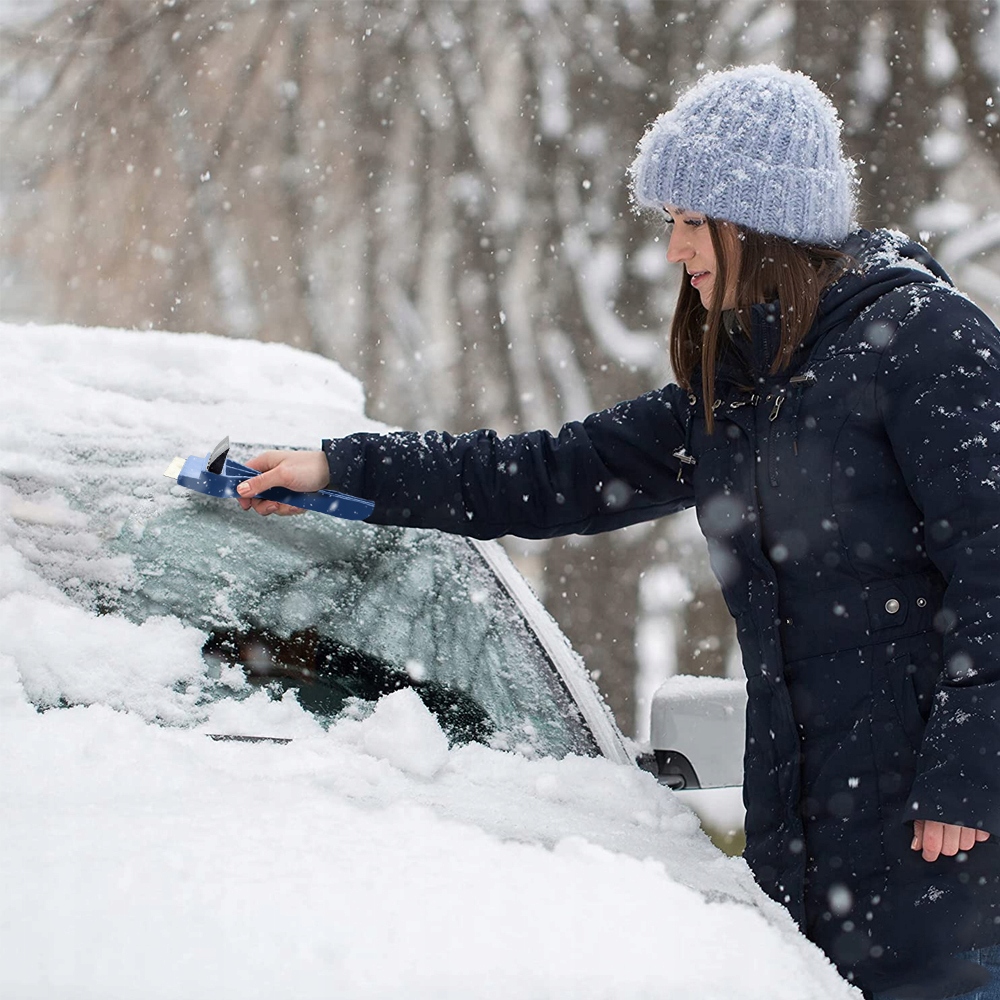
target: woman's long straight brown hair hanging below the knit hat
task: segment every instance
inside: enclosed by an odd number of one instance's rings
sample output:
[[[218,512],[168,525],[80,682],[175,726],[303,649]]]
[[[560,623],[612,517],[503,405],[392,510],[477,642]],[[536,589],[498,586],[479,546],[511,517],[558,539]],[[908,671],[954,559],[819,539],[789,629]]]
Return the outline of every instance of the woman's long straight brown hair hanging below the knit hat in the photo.
[[[677,381],[691,389],[691,379],[701,366],[701,390],[709,433],[715,403],[716,365],[723,337],[722,291],[729,286],[734,258],[739,258],[736,274],[736,321],[739,330],[750,336],[750,309],[761,302],[777,301],[781,317],[781,342],[771,362],[770,373],[788,366],[795,349],[809,332],[819,300],[852,263],[851,258],[833,247],[796,243],[745,229],[730,222],[707,219],[715,251],[715,281],[708,309],[691,283],[681,284],[670,328],[670,362]]]

